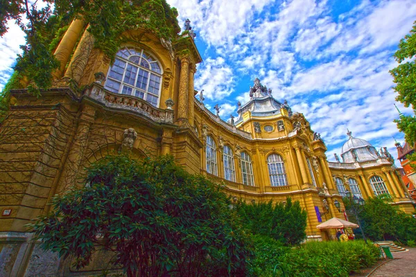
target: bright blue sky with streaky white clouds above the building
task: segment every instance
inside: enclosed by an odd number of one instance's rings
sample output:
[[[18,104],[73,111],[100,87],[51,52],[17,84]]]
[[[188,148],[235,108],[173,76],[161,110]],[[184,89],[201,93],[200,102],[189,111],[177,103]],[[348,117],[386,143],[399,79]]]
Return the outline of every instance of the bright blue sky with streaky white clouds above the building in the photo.
[[[195,88],[207,107],[236,116],[254,78],[306,116],[327,145],[327,156],[353,136],[396,156],[395,92],[388,71],[399,40],[416,20],[415,0],[167,0],[183,25],[189,18],[204,60]],[[19,44],[16,26],[0,38],[0,89]],[[405,114],[411,109],[398,105]]]

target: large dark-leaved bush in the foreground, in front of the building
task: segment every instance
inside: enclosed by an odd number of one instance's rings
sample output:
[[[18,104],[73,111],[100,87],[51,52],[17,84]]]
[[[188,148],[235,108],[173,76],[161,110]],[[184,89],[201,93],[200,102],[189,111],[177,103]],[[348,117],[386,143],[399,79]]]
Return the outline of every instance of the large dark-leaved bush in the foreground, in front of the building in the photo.
[[[173,157],[107,157],[86,182],[55,196],[31,225],[45,249],[74,256],[79,268],[103,248],[128,276],[244,274],[250,243],[229,197]]]

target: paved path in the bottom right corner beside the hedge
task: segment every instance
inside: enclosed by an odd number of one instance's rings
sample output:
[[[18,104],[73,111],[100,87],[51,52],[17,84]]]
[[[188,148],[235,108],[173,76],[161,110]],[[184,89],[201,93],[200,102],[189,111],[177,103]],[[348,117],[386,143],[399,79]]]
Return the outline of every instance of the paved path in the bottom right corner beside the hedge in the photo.
[[[410,248],[409,251],[392,253],[394,260],[381,265],[376,269],[371,277],[415,277],[416,276],[416,248]]]

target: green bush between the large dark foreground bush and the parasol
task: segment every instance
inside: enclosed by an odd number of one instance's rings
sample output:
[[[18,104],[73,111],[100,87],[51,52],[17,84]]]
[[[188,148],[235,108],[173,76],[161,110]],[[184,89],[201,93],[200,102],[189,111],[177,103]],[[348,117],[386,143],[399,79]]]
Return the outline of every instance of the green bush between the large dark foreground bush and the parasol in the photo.
[[[285,245],[300,244],[306,238],[306,211],[300,203],[292,203],[290,197],[286,205],[272,202],[237,205],[246,229],[254,235],[267,235]]]

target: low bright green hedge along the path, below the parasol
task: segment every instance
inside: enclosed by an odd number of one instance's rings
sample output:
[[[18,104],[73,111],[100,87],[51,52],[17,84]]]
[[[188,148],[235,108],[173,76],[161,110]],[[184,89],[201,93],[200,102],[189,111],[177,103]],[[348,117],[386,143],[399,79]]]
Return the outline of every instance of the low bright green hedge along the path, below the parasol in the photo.
[[[380,253],[374,245],[362,240],[307,242],[289,248],[270,238],[254,236],[254,247],[256,258],[250,263],[250,274],[261,277],[273,276],[277,264],[286,276],[349,276],[374,265]],[[280,267],[275,276],[281,276]]]

